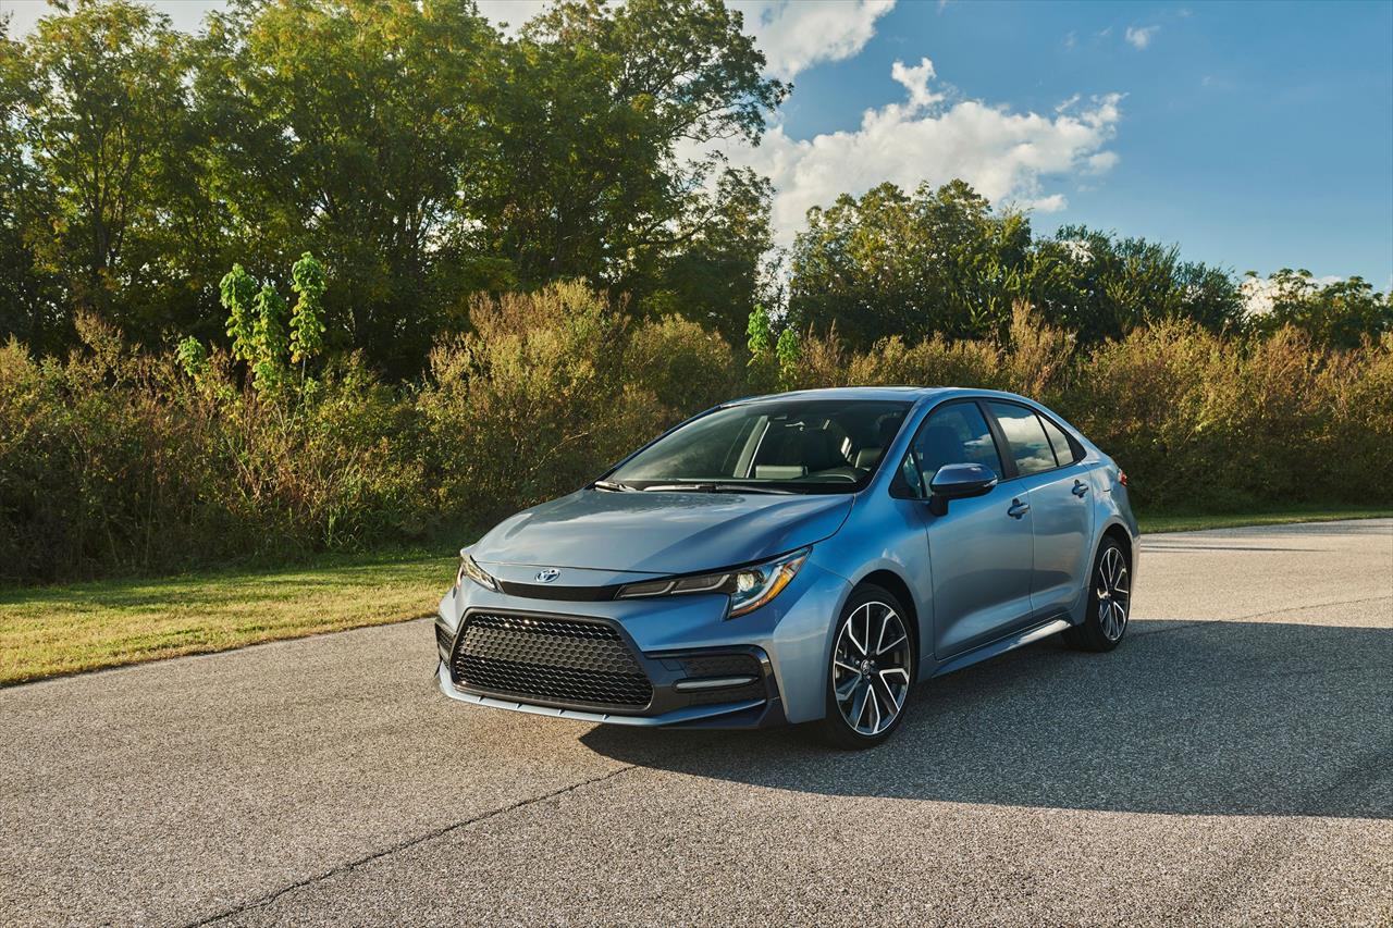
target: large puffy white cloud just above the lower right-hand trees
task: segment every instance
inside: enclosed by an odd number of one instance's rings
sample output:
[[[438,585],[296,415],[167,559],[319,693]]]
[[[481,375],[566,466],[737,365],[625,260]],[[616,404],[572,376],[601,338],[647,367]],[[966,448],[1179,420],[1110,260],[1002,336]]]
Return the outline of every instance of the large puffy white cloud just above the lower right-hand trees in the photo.
[[[942,105],[932,89],[933,65],[896,64],[905,100],[868,109],[854,130],[791,138],[773,125],[756,148],[727,149],[733,164],[772,178],[776,241],[787,245],[811,206],[827,206],[841,194],[859,195],[892,181],[914,190],[921,181],[970,183],[993,203],[1055,212],[1066,196],[1046,191],[1050,177],[1098,174],[1117,163],[1106,150],[1121,118],[1121,95],[1070,100],[1052,116],[1018,113],[979,100]]]

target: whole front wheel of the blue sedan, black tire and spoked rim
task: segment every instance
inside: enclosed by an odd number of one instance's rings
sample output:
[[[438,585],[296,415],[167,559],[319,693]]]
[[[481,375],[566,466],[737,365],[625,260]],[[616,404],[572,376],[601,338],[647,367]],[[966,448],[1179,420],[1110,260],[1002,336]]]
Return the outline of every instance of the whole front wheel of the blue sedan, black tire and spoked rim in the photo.
[[[819,723],[825,743],[858,751],[894,734],[914,687],[914,623],[894,594],[872,584],[851,594],[832,640],[827,712]]]

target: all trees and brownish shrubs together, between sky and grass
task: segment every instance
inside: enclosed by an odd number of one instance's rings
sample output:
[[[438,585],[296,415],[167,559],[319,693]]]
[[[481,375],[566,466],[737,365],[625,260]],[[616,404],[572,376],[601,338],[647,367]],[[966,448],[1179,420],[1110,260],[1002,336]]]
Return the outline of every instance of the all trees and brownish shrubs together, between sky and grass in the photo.
[[[127,0],[0,35],[0,581],[458,543],[780,389],[1036,396],[1146,509],[1387,502],[1393,312],[960,181],[811,210],[720,0]],[[770,266],[773,265],[773,269]]]

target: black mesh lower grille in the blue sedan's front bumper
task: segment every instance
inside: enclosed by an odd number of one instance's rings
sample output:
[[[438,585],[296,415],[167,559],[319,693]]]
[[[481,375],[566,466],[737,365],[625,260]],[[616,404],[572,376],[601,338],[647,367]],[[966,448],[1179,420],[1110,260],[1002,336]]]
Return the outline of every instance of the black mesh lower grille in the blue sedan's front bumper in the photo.
[[[469,616],[451,663],[458,683],[524,699],[642,709],[653,698],[628,645],[598,621]]]

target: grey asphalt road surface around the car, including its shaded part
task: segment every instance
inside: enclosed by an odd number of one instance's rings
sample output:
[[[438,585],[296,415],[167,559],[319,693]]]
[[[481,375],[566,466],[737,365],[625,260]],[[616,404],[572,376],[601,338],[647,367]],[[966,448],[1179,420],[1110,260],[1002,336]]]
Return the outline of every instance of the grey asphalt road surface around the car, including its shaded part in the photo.
[[[447,702],[433,649],[0,691],[0,922],[1393,924],[1393,520],[1146,536],[1121,648],[862,754]]]

